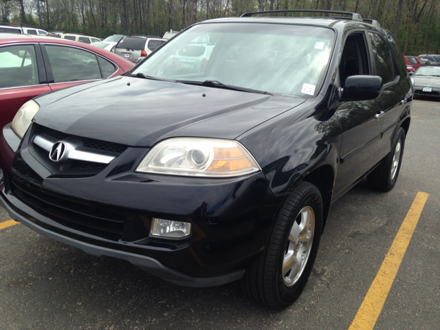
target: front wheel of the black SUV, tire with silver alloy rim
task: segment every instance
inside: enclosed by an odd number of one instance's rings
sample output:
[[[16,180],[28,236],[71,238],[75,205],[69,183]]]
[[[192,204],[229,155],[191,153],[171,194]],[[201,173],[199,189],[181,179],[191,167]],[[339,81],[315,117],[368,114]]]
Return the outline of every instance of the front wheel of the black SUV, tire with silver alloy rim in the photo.
[[[245,291],[272,309],[292,304],[307,283],[321,232],[320,191],[301,182],[283,204],[267,248],[248,267],[243,278]]]

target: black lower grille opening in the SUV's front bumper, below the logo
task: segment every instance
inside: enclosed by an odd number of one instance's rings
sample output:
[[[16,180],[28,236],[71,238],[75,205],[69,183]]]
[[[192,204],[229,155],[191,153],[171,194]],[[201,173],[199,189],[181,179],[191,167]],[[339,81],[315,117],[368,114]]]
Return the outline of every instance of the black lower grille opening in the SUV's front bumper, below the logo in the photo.
[[[11,176],[11,190],[23,203],[56,223],[113,241],[122,239],[127,219],[123,210],[61,196],[15,175]]]

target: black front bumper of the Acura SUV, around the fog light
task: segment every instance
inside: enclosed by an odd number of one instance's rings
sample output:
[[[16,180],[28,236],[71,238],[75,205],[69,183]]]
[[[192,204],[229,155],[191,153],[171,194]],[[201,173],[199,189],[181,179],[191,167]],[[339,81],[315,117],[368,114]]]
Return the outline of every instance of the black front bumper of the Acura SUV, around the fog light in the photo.
[[[45,176],[47,170],[26,146],[14,154],[3,136],[0,144],[0,202],[13,219],[179,285],[205,287],[241,278],[265,248],[282,201],[272,195],[263,173],[233,179],[141,175],[122,166],[145,152],[132,148],[96,175]],[[153,217],[190,222],[192,234],[153,239],[148,236]]]

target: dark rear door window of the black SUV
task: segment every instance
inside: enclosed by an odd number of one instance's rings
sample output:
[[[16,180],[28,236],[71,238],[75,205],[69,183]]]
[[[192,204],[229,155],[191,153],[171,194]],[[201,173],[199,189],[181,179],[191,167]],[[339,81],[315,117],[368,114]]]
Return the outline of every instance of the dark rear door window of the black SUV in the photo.
[[[393,61],[391,54],[382,36],[377,33],[369,32],[371,45],[373,46],[373,56],[378,76],[382,77],[384,84],[394,80]]]

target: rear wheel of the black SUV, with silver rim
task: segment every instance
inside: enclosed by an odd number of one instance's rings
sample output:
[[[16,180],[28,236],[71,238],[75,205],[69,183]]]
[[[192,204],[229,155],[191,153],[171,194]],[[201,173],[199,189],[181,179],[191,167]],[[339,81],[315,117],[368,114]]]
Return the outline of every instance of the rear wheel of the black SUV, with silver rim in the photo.
[[[394,137],[391,151],[386,155],[377,168],[368,176],[367,181],[371,188],[390,191],[396,184],[399,176],[401,159],[404,155],[405,131],[401,127]]]

